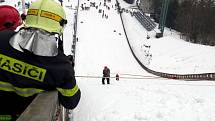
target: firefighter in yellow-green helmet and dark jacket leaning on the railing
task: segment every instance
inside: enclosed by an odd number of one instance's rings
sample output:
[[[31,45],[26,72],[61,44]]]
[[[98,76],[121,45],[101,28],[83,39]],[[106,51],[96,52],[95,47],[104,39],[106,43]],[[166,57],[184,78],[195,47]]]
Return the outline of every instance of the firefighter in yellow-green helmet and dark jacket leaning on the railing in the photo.
[[[62,6],[37,0],[23,28],[0,32],[0,115],[20,114],[35,94],[52,90],[65,108],[77,106],[81,92],[74,69],[57,46],[66,23]]]

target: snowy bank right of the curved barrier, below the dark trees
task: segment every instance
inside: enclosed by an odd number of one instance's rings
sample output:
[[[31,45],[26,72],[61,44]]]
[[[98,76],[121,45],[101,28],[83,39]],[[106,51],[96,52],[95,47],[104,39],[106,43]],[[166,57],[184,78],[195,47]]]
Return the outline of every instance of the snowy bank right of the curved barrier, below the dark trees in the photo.
[[[132,10],[125,2],[119,1]],[[179,33],[168,28],[164,30],[164,37],[157,39],[156,31],[146,32],[135,17],[126,12],[122,15],[133,50],[148,68],[173,74],[215,72],[215,47],[186,42],[180,39]],[[147,34],[150,39],[146,38]],[[151,57],[146,56],[148,54]]]

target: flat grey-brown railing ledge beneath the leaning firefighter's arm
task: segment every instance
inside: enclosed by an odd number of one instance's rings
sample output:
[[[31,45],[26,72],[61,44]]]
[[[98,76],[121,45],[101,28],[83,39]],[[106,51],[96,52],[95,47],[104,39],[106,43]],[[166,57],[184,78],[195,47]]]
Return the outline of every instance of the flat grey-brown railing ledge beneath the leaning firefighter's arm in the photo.
[[[57,91],[38,94],[17,121],[62,121]]]

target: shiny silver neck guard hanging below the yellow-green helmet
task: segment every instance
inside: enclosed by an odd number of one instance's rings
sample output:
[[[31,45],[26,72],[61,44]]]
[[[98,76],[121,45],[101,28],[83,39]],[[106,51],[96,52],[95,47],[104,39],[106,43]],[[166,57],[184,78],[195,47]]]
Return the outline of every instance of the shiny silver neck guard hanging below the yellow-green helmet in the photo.
[[[29,51],[38,56],[56,56],[58,48],[55,35],[36,30],[20,30],[10,40],[10,45],[21,51]]]

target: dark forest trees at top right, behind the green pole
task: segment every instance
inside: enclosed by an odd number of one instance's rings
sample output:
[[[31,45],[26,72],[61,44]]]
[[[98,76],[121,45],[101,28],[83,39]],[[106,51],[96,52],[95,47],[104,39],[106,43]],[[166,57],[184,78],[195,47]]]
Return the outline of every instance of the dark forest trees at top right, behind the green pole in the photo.
[[[159,22],[163,0],[153,0]],[[170,0],[166,26],[193,43],[215,45],[215,0]]]

